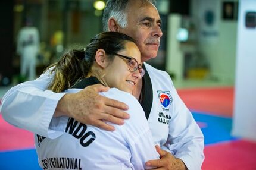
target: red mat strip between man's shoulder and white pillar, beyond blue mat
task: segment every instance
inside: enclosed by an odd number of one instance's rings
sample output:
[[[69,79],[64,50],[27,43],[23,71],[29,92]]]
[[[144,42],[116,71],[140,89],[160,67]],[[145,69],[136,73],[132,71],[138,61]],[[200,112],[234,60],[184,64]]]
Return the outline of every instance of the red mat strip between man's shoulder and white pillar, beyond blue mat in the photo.
[[[178,93],[191,111],[226,117],[233,115],[233,87],[179,89]]]

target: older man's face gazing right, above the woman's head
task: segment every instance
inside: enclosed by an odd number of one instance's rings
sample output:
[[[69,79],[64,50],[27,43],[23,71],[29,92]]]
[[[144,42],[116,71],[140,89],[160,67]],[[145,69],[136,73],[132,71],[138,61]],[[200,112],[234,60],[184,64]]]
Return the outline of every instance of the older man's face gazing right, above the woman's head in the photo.
[[[133,1],[128,11],[127,27],[120,28],[119,32],[129,35],[136,40],[136,44],[141,51],[141,61],[155,58],[160,45],[161,19],[157,8],[147,3]]]

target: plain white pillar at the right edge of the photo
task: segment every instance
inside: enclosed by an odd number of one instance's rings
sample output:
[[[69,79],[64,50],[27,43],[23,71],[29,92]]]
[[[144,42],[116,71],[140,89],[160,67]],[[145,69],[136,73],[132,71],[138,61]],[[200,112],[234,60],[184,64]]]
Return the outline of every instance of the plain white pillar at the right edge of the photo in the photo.
[[[241,0],[239,5],[232,134],[256,140],[256,28],[245,27],[246,11],[256,12],[256,1]]]

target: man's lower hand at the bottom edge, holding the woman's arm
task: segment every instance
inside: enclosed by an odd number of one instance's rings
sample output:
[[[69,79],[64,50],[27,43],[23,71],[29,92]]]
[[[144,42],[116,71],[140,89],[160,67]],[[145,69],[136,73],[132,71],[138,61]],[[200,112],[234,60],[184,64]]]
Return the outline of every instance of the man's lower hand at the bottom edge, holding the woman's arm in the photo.
[[[154,167],[154,169],[170,169],[170,170],[185,170],[185,164],[179,158],[175,158],[171,153],[166,150],[160,149],[158,145],[155,146],[160,155],[160,159],[149,160],[146,166]]]

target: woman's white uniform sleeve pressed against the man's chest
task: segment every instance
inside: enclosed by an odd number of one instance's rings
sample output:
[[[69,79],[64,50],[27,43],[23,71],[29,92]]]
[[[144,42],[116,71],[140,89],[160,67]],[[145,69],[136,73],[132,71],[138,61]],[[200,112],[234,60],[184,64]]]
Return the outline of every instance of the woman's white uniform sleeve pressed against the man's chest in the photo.
[[[127,113],[130,114],[130,119],[126,120],[123,127],[117,128],[120,128],[130,147],[131,163],[134,169],[150,169],[145,166],[145,163],[148,160],[159,159],[159,155],[155,149],[145,112],[135,97],[126,92],[121,93],[123,94],[118,96],[108,96],[129,105]]]

